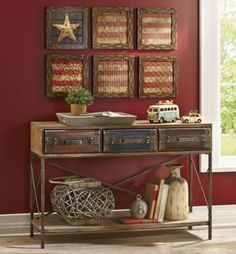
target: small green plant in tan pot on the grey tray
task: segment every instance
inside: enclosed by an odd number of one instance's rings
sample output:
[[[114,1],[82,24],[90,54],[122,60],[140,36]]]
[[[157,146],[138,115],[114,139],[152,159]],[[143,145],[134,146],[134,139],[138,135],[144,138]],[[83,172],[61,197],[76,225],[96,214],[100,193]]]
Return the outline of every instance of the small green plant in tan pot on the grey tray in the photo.
[[[78,116],[87,111],[87,105],[93,103],[93,96],[87,88],[72,87],[68,90],[65,101],[70,104],[71,115]]]

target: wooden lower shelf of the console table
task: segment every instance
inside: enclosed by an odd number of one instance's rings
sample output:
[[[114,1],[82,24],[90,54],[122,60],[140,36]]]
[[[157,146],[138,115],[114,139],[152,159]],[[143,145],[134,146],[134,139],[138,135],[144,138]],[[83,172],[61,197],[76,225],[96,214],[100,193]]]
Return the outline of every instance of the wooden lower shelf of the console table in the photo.
[[[31,221],[32,225],[41,232],[41,223],[39,219]],[[173,227],[204,226],[209,222],[206,218],[199,218],[190,213],[187,220],[165,221],[162,223],[144,223],[144,224],[122,224],[119,218],[110,218],[99,225],[70,226],[61,216],[50,215],[45,217],[45,233],[93,233],[93,232],[118,232],[118,231],[138,231],[138,230],[158,230]]]

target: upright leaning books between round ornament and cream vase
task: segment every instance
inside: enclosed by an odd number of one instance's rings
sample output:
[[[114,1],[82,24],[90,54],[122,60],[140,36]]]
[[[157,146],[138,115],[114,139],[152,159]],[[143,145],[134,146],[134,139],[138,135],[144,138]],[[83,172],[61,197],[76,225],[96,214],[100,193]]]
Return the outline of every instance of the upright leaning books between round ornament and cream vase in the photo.
[[[165,184],[164,179],[151,178],[147,183],[144,200],[147,202],[147,219],[157,222],[164,221],[166,201],[168,197],[169,185]]]

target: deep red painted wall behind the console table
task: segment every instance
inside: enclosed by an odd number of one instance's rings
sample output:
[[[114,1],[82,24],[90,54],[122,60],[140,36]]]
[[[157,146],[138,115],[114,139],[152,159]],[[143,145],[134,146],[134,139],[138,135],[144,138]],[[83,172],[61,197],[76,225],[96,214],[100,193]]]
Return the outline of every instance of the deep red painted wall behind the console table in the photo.
[[[74,54],[131,54],[131,55],[176,55],[179,60],[179,104],[181,114],[198,108],[199,101],[199,50],[198,50],[198,1],[197,0],[23,0],[4,1],[1,4],[1,129],[0,129],[0,213],[20,213],[29,210],[29,134],[30,122],[55,120],[56,112],[66,112],[69,106],[63,99],[44,97],[44,56],[57,53],[44,49],[44,8],[46,6],[132,6],[173,7],[177,10],[178,49],[175,51],[136,50],[71,50]],[[62,52],[62,51],[60,51]],[[123,111],[146,118],[146,109],[156,99],[97,99],[90,111]],[[73,166],[110,182],[125,175],[154,166],[165,158],[108,158],[80,159]],[[50,169],[47,175],[59,174]],[[162,175],[166,175],[164,170]],[[184,173],[187,176],[187,173]],[[200,175],[204,178],[204,174]],[[137,192],[144,189],[145,178],[139,177],[127,188]],[[213,203],[236,203],[236,175],[233,173],[213,175]],[[196,186],[194,192],[198,192]],[[223,189],[223,191],[222,191]],[[133,199],[115,191],[119,207],[128,207]],[[196,204],[202,204],[202,197]]]

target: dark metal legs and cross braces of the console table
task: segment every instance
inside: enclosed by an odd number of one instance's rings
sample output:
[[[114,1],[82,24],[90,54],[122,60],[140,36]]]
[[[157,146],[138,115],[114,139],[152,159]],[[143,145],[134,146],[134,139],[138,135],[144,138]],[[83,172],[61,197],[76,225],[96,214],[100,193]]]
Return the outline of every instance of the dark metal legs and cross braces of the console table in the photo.
[[[171,153],[168,153],[169,155],[171,155]],[[176,155],[174,158],[168,160],[168,161],[164,161],[152,168],[148,168],[148,169],[144,169],[143,171],[136,173],[134,175],[128,176],[127,178],[110,184],[110,183],[106,183],[103,182],[103,184],[111,187],[111,188],[115,188],[118,189],[120,191],[124,191],[127,192],[131,195],[136,195],[136,193],[134,193],[133,191],[127,190],[122,188],[120,185],[124,182],[128,182],[130,180],[133,180],[136,177],[139,177],[141,175],[147,174],[149,172],[155,171],[160,169],[161,167],[165,166],[166,164],[170,164],[175,162],[176,160],[179,160],[180,158],[182,158],[183,156],[188,155],[189,157],[189,211],[192,212],[193,211],[193,196],[192,196],[192,185],[193,185],[193,174],[195,172],[196,177],[197,177],[197,181],[200,185],[200,190],[204,196],[206,205],[208,206],[208,239],[212,239],[212,153],[211,152],[207,152],[205,154],[208,155],[208,170],[207,170],[207,175],[208,175],[208,197],[206,197],[204,190],[203,190],[203,186],[202,183],[200,181],[200,178],[198,176],[198,172],[194,163],[194,158],[193,155],[194,154],[202,154],[199,152],[194,152],[194,153],[189,153],[189,152],[181,152],[179,155],[175,152],[173,153],[173,155]],[[140,154],[141,155],[141,154]],[[148,153],[143,153],[143,155],[148,155]],[[151,153],[150,155],[153,155],[153,153]],[[160,155],[165,155],[165,153],[160,153],[160,154],[156,154],[156,156],[160,156]],[[114,154],[106,154],[105,157],[112,157],[114,156]],[[127,155],[126,155],[127,156]],[[129,156],[133,156],[132,153],[129,154]],[[58,155],[56,158],[64,158],[64,159],[70,159],[70,158],[81,158],[83,157],[83,154],[74,154],[74,155]],[[97,154],[94,154],[94,156],[92,157],[98,157]],[[122,157],[122,155],[120,155],[120,157]],[[45,211],[45,171],[46,171],[46,166],[53,166],[56,167],[62,171],[68,172],[68,173],[72,173],[72,174],[76,174],[82,177],[92,177],[92,176],[88,176],[85,174],[81,174],[79,172],[78,169],[70,169],[64,166],[61,166],[59,164],[56,163],[52,163],[48,160],[50,160],[51,158],[55,159],[55,156],[50,156],[50,155],[46,155],[46,154],[36,154],[34,152],[31,152],[30,155],[30,218],[31,218],[31,223],[30,223],[30,236],[33,237],[34,236],[34,226],[32,224],[32,220],[35,217],[35,212],[34,212],[34,207],[36,206],[38,213],[39,213],[39,220],[41,223],[41,230],[40,230],[40,235],[41,235],[41,248],[45,247],[45,215],[46,215],[46,211]],[[35,160],[38,159],[40,160],[40,174],[39,174],[39,179],[36,183],[36,179],[35,179]],[[99,180],[99,179],[97,179]],[[37,195],[37,189],[40,189],[40,198],[38,198]],[[39,203],[40,201],[40,203]],[[189,229],[191,229],[192,226],[189,226]]]

